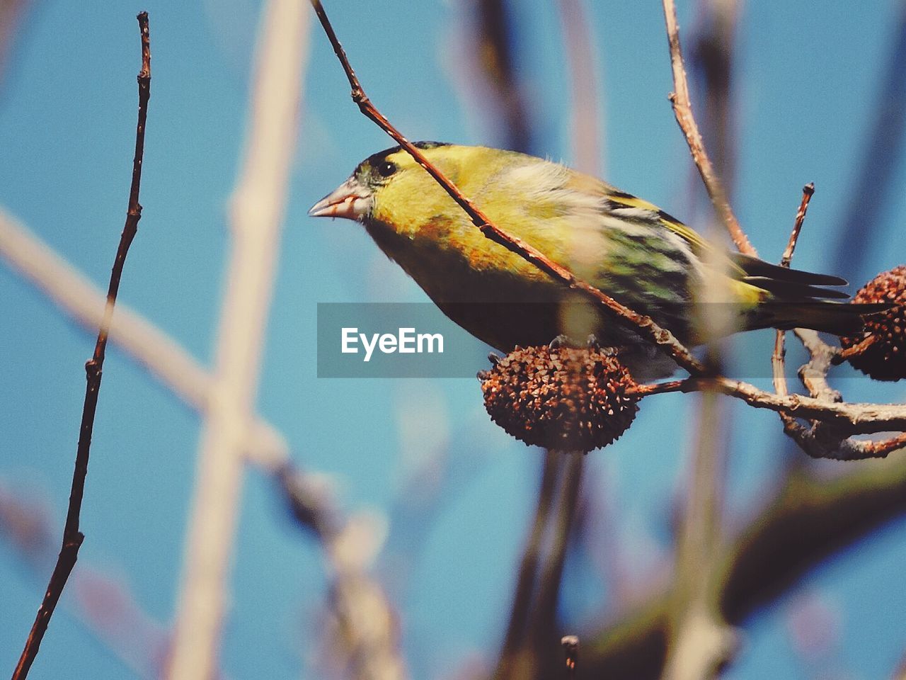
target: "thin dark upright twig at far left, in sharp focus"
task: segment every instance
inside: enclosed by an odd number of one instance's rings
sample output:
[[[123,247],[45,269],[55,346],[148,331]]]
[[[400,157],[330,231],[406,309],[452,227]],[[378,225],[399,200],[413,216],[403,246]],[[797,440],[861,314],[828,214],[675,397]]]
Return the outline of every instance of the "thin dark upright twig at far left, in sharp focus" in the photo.
[[[141,35],[141,70],[139,72],[139,122],[135,130],[135,157],[132,160],[132,182],[129,192],[129,208],[126,212],[126,224],[120,236],[120,246],[117,248],[116,258],[113,261],[110,286],[107,290],[107,305],[104,307],[104,316],[98,331],[98,339],[94,345],[94,354],[85,364],[86,386],[85,401],[82,406],[82,425],[79,433],[79,444],[75,454],[75,471],[72,473],[72,491],[69,497],[69,509],[66,511],[66,525],[63,528],[63,547],[57,559],[53,575],[44,593],[43,602],[34,619],[34,625],[28,634],[22,656],[16,665],[13,680],[24,680],[28,670],[38,654],[47,624],[53,616],[63,588],[69,578],[72,568],[79,557],[79,548],[82,546],[84,535],[79,529],[79,515],[82,510],[82,496],[85,491],[85,477],[88,474],[88,459],[92,448],[92,430],[94,429],[94,413],[98,407],[98,393],[101,389],[101,369],[104,364],[104,353],[107,349],[107,337],[110,335],[113,306],[116,304],[117,293],[120,290],[120,277],[122,268],[126,263],[126,255],[132,239],[135,238],[141,219],[141,206],[139,203],[139,189],[141,185],[141,162],[145,150],[145,121],[148,117],[148,100],[150,97],[151,83],[151,51],[148,31],[148,13],[142,12],[138,16]]]

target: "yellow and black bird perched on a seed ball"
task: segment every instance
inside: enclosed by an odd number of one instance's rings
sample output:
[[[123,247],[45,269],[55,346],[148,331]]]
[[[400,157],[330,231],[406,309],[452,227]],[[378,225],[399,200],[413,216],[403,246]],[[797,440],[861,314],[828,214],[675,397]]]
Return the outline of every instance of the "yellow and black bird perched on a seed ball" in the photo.
[[[484,146],[415,146],[497,227],[684,345],[767,327],[853,335],[878,311],[841,302],[849,297],[837,289],[843,278],[729,252],[650,202],[564,164]],[[627,362],[633,374],[675,368],[631,327],[486,238],[400,146],[362,160],[309,215],[361,222],[444,314],[499,351],[587,331],[597,344],[635,355]]]

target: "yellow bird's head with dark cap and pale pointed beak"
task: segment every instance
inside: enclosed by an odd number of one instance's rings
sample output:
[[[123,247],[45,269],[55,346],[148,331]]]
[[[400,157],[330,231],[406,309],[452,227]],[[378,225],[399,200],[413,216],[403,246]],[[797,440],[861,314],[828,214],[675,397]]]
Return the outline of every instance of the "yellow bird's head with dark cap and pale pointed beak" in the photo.
[[[429,160],[439,160],[439,153],[453,148],[437,141],[415,143]],[[363,221],[375,216],[380,203],[393,203],[393,197],[406,195],[408,201],[419,198],[419,186],[435,192],[425,170],[401,147],[380,151],[362,160],[352,175],[339,187],[315,203],[308,214],[315,218],[345,218]],[[442,189],[441,189],[442,191]]]

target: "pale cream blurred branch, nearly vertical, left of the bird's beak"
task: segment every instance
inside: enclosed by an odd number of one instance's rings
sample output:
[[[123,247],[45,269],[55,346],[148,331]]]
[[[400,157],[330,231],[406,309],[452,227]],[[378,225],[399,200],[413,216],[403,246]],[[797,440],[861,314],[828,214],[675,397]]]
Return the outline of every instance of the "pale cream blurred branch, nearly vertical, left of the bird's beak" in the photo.
[[[208,680],[216,674],[243,452],[255,423],[260,353],[294,152],[307,16],[303,5],[272,0],[259,29],[246,159],[232,199],[233,243],[212,402],[199,444],[170,680]]]

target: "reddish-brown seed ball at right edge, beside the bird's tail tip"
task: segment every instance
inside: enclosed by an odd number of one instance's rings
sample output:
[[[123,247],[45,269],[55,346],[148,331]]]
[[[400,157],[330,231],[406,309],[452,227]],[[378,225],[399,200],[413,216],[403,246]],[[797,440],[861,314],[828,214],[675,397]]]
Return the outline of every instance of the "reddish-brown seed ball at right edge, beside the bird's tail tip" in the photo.
[[[865,317],[865,332],[843,337],[843,355],[854,368],[875,380],[906,377],[906,266],[872,278],[853,302],[893,303],[890,309]],[[860,346],[857,346],[860,345]]]

